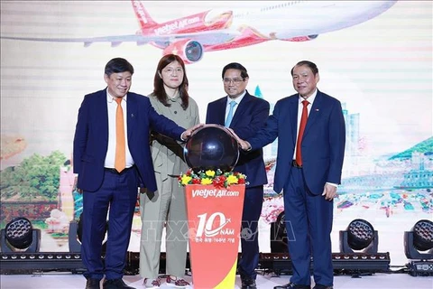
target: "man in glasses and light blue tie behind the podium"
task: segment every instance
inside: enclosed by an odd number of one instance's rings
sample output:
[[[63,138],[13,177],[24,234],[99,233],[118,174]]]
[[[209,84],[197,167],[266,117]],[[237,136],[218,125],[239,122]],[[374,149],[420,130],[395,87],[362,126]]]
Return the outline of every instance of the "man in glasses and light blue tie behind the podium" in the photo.
[[[206,123],[230,127],[243,138],[249,138],[259,130],[269,116],[269,103],[256,98],[245,90],[248,73],[243,65],[229,63],[224,67],[224,89],[227,96],[207,105]],[[250,154],[241,152],[234,169],[247,176],[244,210],[242,215],[241,247],[242,257],[238,271],[242,288],[256,288],[255,269],[259,263],[259,240],[257,225],[262,212],[263,184],[267,183],[263,163],[263,150],[258,148]]]

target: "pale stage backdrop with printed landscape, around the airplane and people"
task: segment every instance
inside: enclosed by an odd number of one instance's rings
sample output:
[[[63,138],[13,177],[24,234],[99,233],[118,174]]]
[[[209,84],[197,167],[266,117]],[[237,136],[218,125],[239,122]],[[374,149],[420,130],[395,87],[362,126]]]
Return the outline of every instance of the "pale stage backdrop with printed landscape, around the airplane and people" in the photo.
[[[227,21],[225,28],[249,31],[252,38],[245,44],[257,42],[228,49],[223,38],[215,36],[214,44],[226,45],[225,49],[205,51],[200,61],[187,66],[190,96],[198,102],[202,121],[207,103],[225,96],[221,70],[227,63],[244,64],[250,75],[248,91],[273,107],[278,99],[295,92],[290,78],[293,65],[302,60],[316,62],[318,88],[342,102],[347,127],[343,184],[335,200],[333,251],[338,252],[338,231],[352,219],[363,218],[379,231],[379,250],[391,253],[392,264],[403,265],[407,261],[403,231],[419,219],[431,219],[433,210],[432,4],[390,1],[384,4],[386,9],[376,8],[383,10],[379,14],[365,12],[371,19],[362,23],[339,21],[350,7],[363,9],[363,3],[373,2],[379,1],[336,1],[333,14],[318,8],[321,1],[310,1],[308,6],[302,6],[302,1],[299,6],[293,1],[145,1],[143,7],[154,22],[168,22],[154,33],[199,23],[196,14],[210,9],[206,14],[210,23],[219,19],[212,17],[231,15],[233,21]],[[111,42],[94,42],[86,47],[84,42],[56,39],[132,35],[139,29],[133,9],[138,3],[2,1],[2,37],[51,40],[1,39],[0,227],[17,216],[32,219],[42,229],[43,251],[68,250],[69,220],[77,219],[81,210],[71,155],[84,95],[106,87],[104,66],[114,57],[133,63],[131,90],[149,94],[162,55],[151,44],[113,42],[112,47]],[[279,8],[285,9],[280,16],[256,16],[249,26],[235,26],[253,13]],[[317,26],[303,22],[303,14],[314,18]],[[180,18],[183,21],[172,21]],[[275,24],[287,18],[290,24]],[[329,20],[335,20],[336,27],[316,37]],[[281,30],[300,30],[310,36],[262,42],[260,29],[267,29],[265,36],[273,38],[281,34],[271,32]],[[272,191],[277,145],[264,149],[269,184],[260,220],[262,252],[270,251],[270,224],[282,211],[281,196]],[[140,228],[137,211],[133,251],[138,251]]]

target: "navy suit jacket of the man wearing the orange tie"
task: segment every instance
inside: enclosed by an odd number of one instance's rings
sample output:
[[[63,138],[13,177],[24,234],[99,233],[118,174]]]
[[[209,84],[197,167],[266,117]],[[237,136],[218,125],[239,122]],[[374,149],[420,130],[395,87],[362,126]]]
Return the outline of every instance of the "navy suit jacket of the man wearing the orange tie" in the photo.
[[[153,109],[149,98],[128,92],[126,98],[128,147],[139,172],[140,186],[156,191],[155,174],[149,135],[151,128],[163,135],[180,140],[184,128]],[[74,172],[78,173],[77,187],[97,191],[104,178],[104,164],[108,147],[108,110],[106,89],[85,96],[78,110],[74,137]]]

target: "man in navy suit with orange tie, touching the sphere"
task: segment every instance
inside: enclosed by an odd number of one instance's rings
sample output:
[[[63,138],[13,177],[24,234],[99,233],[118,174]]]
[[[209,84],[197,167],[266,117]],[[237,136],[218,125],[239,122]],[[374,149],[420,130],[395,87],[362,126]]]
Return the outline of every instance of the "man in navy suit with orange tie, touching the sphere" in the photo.
[[[108,61],[104,75],[107,88],[88,94],[78,111],[73,163],[78,191],[83,193],[81,256],[87,269],[87,289],[99,289],[104,275],[104,289],[133,288],[122,278],[138,186],[157,190],[149,147],[151,127],[177,140],[184,140],[193,130],[157,114],[149,98],[128,92],[133,74],[128,61]]]

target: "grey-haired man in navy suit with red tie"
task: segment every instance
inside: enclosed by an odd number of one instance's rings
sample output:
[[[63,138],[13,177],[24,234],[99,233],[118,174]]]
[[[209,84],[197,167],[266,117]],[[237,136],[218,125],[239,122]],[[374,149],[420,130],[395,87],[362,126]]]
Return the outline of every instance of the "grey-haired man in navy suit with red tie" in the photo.
[[[238,141],[244,150],[256,150],[278,137],[274,191],[283,191],[293,275],[289,284],[274,289],[310,288],[311,256],[314,288],[332,288],[330,234],[345,154],[345,119],[341,103],[317,89],[316,64],[300,61],[291,75],[298,94],[279,100],[257,135]]]

